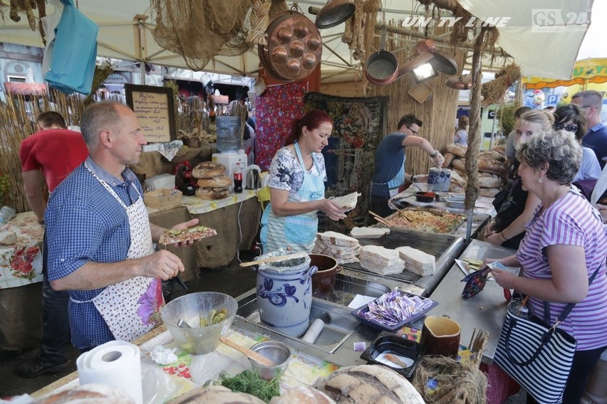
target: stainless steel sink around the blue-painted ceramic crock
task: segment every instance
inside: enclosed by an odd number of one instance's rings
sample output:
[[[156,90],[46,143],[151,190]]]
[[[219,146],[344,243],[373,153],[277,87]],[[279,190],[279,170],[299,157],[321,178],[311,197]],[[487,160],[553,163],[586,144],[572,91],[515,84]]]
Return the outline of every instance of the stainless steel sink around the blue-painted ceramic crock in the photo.
[[[280,334],[285,338],[300,341],[302,344],[308,344],[300,338],[288,336],[281,331],[276,331],[268,324],[265,324],[259,318],[259,307],[257,305],[257,294],[252,291],[246,297],[243,297],[238,302],[237,317],[242,317],[245,321],[261,326],[264,329],[270,330],[276,334]],[[343,341],[346,341],[352,332],[358,326],[359,321],[356,317],[350,314],[350,310],[340,307],[336,304],[331,304],[325,300],[312,299],[312,308],[310,312],[310,324],[316,319],[321,319],[325,323],[323,331],[318,335],[313,346],[321,351],[332,353],[339,348]]]

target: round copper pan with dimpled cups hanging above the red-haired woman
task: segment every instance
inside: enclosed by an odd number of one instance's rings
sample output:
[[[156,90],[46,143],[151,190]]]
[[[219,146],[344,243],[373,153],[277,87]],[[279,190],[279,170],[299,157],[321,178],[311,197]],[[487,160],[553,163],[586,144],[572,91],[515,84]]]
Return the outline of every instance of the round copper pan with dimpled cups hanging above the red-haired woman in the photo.
[[[267,45],[259,45],[259,60],[266,72],[278,80],[306,78],[321,61],[321,33],[312,21],[296,9],[271,18],[266,40]]]

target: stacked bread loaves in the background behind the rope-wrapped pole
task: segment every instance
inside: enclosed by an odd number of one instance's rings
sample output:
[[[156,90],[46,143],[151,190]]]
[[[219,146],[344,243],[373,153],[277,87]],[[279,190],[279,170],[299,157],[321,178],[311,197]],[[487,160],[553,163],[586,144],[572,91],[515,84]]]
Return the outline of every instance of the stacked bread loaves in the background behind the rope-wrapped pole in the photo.
[[[443,166],[452,169],[451,174],[451,192],[462,192],[466,184],[461,184],[461,180],[467,179],[466,175],[466,149],[462,144],[447,145],[445,153],[445,163]],[[506,156],[503,154],[503,147],[494,147],[491,150],[479,151],[478,170],[479,170],[479,195],[493,197],[500,191],[504,185],[506,176]],[[453,172],[459,174],[454,176]],[[454,189],[452,189],[454,188]],[[459,188],[459,189],[456,189]]]

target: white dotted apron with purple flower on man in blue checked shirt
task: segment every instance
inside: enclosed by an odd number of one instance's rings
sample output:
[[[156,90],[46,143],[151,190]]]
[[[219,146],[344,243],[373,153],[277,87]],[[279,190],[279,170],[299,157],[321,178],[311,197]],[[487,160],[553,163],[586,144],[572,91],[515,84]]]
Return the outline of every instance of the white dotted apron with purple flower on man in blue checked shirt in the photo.
[[[91,174],[93,174],[92,171]],[[127,213],[130,226],[130,247],[126,259],[134,260],[152,254],[154,246],[150,220],[147,217],[142,196],[131,206],[126,206],[105,181],[95,174],[93,176],[125,208]],[[131,186],[139,194],[135,184]],[[160,308],[165,301],[162,297],[160,279],[133,277],[106,287],[92,299],[92,302],[105,323],[108,324],[115,339],[133,341],[160,324]]]

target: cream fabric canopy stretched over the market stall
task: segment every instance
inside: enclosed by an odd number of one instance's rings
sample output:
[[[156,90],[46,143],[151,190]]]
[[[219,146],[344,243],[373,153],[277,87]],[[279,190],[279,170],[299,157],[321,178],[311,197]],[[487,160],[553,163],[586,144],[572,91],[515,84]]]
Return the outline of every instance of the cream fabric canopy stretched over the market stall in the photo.
[[[1,0],[3,6],[9,0]],[[579,46],[591,20],[593,0],[441,0],[443,4],[459,3],[477,21],[492,21],[498,27],[497,46],[514,58],[522,67],[523,75],[542,75],[568,79],[579,51]],[[154,21],[150,16],[150,0],[78,0],[78,8],[98,24],[98,55],[135,62],[157,63],[185,67],[180,55],[160,48],[151,35]],[[291,2],[288,3],[289,6]],[[308,13],[308,6],[319,8],[324,1],[297,1],[301,11],[312,21],[316,16]],[[305,8],[305,9],[304,9]],[[413,8],[413,10],[412,10]],[[385,21],[404,20],[423,14],[424,6],[415,0],[384,0]],[[47,14],[53,7],[47,7]],[[6,13],[8,14],[8,13]],[[378,21],[383,18],[378,14]],[[505,18],[505,19],[504,19]],[[367,22],[368,23],[368,22]],[[423,28],[408,28],[417,32],[403,48],[413,47],[423,33]],[[321,31],[325,49],[321,61],[321,80],[350,78],[358,68],[351,50],[341,43],[343,24]],[[0,26],[0,42],[43,47],[39,33],[31,31],[26,17],[15,23],[4,18]],[[440,44],[439,44],[440,45]],[[330,49],[329,49],[330,48]],[[468,47],[469,58],[472,50]],[[487,63],[488,60],[486,60]],[[501,68],[501,61],[494,61],[494,68]],[[229,75],[256,75],[259,57],[256,49],[233,57],[216,56],[204,68],[205,71]]]

